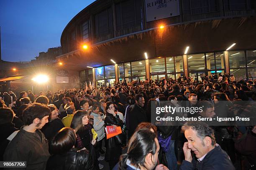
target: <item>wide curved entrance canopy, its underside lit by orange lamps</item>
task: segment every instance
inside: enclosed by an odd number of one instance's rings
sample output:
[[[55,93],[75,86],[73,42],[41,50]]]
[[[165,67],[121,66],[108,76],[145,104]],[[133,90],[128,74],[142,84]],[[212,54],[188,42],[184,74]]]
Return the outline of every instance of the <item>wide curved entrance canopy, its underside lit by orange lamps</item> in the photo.
[[[148,59],[181,56],[187,46],[188,54],[225,51],[233,43],[236,46],[230,50],[255,49],[255,21],[256,17],[239,17],[169,25],[89,45],[86,51],[79,48],[56,59],[68,70],[81,71],[113,64],[110,59],[116,63],[144,60],[145,52]]]

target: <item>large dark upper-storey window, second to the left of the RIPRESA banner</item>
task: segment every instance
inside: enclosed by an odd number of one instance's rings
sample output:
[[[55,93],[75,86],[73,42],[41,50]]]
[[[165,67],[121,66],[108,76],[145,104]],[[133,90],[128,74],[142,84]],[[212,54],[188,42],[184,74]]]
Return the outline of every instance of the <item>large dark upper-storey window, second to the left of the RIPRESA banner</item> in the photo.
[[[105,36],[113,32],[111,8],[95,15],[95,37]]]

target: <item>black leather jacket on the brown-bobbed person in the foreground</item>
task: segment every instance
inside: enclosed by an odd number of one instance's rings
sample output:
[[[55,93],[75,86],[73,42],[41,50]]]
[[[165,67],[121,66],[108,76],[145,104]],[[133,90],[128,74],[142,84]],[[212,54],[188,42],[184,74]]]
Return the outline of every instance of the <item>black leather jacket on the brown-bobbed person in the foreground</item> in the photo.
[[[55,154],[49,157],[46,170],[93,170],[93,161],[89,151],[71,148],[63,154]]]

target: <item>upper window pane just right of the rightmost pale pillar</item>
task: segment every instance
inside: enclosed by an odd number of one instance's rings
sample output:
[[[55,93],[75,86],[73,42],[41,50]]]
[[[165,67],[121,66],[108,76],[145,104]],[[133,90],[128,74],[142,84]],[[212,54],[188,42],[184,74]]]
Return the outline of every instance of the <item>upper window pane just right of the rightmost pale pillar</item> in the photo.
[[[230,69],[246,67],[244,51],[228,51],[228,58]]]

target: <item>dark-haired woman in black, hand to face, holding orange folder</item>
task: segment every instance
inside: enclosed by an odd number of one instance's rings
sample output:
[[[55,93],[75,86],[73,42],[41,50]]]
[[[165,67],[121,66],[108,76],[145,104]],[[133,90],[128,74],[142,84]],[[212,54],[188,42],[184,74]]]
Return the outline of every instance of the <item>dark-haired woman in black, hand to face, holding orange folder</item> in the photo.
[[[115,105],[110,101],[105,104],[104,122],[105,126],[117,127],[123,125],[123,121],[117,114],[117,108],[115,108]],[[112,170],[122,154],[122,145],[116,142],[115,137],[109,138],[106,142],[105,160],[108,161],[110,170]]]

